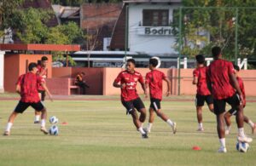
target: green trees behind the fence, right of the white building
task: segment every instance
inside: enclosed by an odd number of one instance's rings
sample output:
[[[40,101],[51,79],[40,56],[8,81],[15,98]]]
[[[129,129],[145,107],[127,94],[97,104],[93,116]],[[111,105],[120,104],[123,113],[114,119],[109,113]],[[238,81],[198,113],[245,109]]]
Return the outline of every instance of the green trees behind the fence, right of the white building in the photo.
[[[188,7],[255,7],[253,0],[183,0]],[[175,14],[177,21],[178,15]],[[222,47],[226,59],[234,60],[236,48],[236,9],[183,9],[182,54],[211,54],[214,45]],[[175,24],[177,26],[177,23]],[[238,10],[238,54],[239,57],[256,56],[256,9]],[[209,37],[196,35],[195,30],[208,31]],[[204,43],[200,49],[191,47],[196,41]]]

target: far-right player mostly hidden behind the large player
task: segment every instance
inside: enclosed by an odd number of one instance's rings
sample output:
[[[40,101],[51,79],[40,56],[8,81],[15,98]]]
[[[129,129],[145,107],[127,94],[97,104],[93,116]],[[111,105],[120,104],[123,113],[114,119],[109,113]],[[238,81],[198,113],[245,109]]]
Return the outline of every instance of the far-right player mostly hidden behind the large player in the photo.
[[[241,77],[238,76],[238,72],[240,71],[239,66],[234,65],[235,68],[235,74],[236,74],[236,79],[239,83],[239,87],[241,89],[241,94],[244,100],[243,103],[243,108],[246,106],[246,94],[245,94],[245,89],[244,89],[244,85],[242,82]],[[231,128],[231,121],[230,121],[230,117],[232,117],[232,115],[236,115],[236,108],[231,108],[229,112],[225,113],[225,122],[226,122],[226,131],[225,134],[229,135],[230,134],[230,128]],[[252,120],[250,120],[248,117],[243,116],[243,121],[247,124],[250,125],[251,129],[252,129],[252,134],[255,133],[256,131],[256,123],[253,123]]]

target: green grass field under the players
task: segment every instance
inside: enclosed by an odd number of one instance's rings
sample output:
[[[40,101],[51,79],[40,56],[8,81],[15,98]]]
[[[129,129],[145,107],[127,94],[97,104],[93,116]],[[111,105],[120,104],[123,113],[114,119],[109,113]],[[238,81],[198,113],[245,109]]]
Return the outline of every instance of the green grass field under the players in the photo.
[[[1,132],[16,104],[17,100],[0,100]],[[217,152],[215,117],[207,107],[205,131],[196,132],[192,101],[163,101],[162,111],[177,122],[177,134],[157,117],[148,140],[141,138],[119,100],[55,100],[46,106],[49,116],[60,119],[60,135],[43,135],[30,108],[17,117],[10,136],[0,136],[0,165],[256,165],[256,141],[247,153],[236,151],[234,117],[226,154]],[[253,121],[255,108],[256,103],[247,103],[245,110]],[[253,136],[247,124],[245,129]]]

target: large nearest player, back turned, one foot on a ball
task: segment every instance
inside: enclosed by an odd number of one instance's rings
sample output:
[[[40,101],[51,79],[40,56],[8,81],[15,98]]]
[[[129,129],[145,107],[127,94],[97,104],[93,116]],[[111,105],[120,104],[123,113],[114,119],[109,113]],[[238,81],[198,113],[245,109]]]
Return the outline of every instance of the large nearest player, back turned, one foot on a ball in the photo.
[[[236,108],[236,123],[238,128],[237,140],[251,142],[252,138],[245,135],[243,129],[243,107],[241,89],[234,74],[234,67],[230,61],[222,60],[221,49],[212,48],[213,61],[207,69],[208,89],[213,95],[214,113],[217,119],[217,131],[220,142],[218,152],[227,152],[225,145],[224,112],[226,103]],[[235,90],[236,89],[236,90]]]

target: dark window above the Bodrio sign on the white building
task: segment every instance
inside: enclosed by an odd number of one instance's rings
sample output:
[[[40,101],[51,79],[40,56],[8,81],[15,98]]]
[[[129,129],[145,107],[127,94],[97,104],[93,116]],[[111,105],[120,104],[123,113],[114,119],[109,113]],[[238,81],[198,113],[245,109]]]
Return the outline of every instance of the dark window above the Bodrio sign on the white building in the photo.
[[[143,26],[169,26],[168,9],[144,9]]]

